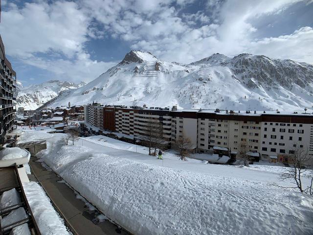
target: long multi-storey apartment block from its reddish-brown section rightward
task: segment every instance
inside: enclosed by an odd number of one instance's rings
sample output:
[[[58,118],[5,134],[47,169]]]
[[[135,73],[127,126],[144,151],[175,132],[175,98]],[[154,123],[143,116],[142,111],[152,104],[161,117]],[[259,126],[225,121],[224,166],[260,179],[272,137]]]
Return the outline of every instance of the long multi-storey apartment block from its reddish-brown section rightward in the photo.
[[[104,109],[103,129],[130,138],[144,134],[147,119],[152,118],[162,123],[164,140],[173,144],[186,136],[201,153],[212,153],[218,147],[233,154],[247,151],[269,159],[290,154],[296,144],[308,147],[313,155],[313,114],[117,106]],[[89,113],[86,120],[95,115]]]

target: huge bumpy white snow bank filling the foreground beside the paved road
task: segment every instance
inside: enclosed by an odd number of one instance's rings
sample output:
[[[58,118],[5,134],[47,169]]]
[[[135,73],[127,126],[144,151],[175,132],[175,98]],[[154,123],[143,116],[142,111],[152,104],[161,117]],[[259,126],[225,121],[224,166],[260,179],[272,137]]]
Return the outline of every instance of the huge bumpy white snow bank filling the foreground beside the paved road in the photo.
[[[90,154],[93,150],[88,148],[85,157],[75,159],[74,148],[82,150],[80,146],[65,146],[57,154],[47,154],[45,162],[110,219],[134,234],[313,233],[313,211],[307,206],[310,203],[303,203],[311,199],[297,192],[267,183]],[[59,154],[61,158],[51,157]]]

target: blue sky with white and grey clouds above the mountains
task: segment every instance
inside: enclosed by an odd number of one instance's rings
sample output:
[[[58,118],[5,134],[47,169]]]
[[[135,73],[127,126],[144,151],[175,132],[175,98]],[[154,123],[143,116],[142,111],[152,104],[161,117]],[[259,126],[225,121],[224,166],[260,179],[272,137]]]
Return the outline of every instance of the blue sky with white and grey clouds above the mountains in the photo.
[[[24,85],[89,82],[131,49],[190,63],[223,53],[313,64],[313,0],[1,0],[0,34]]]

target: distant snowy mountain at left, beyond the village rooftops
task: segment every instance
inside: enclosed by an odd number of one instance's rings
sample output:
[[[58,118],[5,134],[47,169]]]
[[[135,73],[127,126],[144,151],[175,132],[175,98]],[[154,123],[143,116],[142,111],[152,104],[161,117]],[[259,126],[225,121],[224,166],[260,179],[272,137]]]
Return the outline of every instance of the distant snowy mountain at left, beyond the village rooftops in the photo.
[[[25,110],[35,110],[45,102],[56,97],[60,92],[76,89],[84,85],[86,85],[84,82],[75,84],[73,82],[50,80],[39,85],[23,87],[21,82],[16,82],[17,108],[24,107]]]

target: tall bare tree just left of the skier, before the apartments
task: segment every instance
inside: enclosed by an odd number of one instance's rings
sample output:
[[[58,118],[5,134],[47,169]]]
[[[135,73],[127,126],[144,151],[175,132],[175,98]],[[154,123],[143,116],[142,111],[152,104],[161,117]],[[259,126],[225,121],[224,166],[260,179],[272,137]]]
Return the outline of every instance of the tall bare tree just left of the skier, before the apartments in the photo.
[[[156,154],[156,148],[162,148],[163,140],[163,125],[155,118],[148,118],[144,125],[144,132],[140,136],[143,141],[146,141],[149,147],[149,155]],[[154,153],[152,154],[152,149]]]

